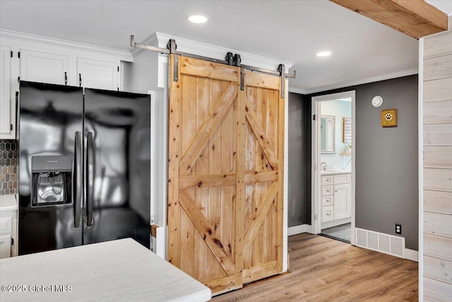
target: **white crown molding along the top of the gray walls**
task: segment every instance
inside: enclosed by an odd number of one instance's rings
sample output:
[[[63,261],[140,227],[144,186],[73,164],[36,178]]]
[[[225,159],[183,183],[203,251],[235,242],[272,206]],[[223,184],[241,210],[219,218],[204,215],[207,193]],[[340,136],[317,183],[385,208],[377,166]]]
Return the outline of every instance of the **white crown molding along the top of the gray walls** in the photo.
[[[289,92],[307,95],[307,94],[311,94],[311,93],[331,91],[331,90],[337,89],[337,88],[346,88],[346,87],[350,87],[350,86],[357,86],[357,85],[362,85],[362,84],[367,84],[367,83],[374,83],[374,82],[379,82],[379,81],[396,79],[396,78],[400,78],[402,76],[412,76],[413,74],[418,74],[418,73],[419,73],[419,69],[414,68],[414,69],[393,72],[391,74],[381,74],[380,76],[371,76],[369,78],[359,79],[359,80],[355,80],[355,81],[342,82],[342,83],[337,83],[337,84],[333,84],[333,85],[329,85],[329,86],[322,86],[322,87],[317,87],[317,88],[312,88],[312,89],[301,89],[301,88],[290,88],[289,87]],[[290,84],[290,82],[289,82],[289,84]]]

